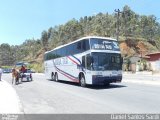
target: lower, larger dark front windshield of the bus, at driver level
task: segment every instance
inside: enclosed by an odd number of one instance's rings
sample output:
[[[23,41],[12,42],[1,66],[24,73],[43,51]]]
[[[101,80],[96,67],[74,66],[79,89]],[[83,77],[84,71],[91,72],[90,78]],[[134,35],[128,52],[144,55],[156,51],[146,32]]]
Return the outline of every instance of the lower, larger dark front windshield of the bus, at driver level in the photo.
[[[121,70],[121,55],[118,53],[92,53],[93,71]]]

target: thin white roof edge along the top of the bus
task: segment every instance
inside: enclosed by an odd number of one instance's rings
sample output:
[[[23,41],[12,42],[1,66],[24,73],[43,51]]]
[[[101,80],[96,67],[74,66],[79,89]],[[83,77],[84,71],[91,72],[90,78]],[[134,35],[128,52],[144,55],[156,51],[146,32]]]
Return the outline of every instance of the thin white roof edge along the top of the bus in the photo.
[[[72,42],[70,42],[70,43],[67,43],[67,44],[64,44],[64,45],[60,45],[60,46],[58,46],[58,47],[56,47],[56,48],[54,48],[54,49],[52,49],[52,50],[50,50],[50,51],[46,51],[45,53],[51,52],[51,51],[53,51],[53,50],[56,50],[56,49],[59,49],[59,48],[62,48],[62,47],[65,47],[65,46],[67,46],[67,45],[70,45],[70,44],[72,44],[72,43],[75,43],[75,42],[78,42],[78,41],[81,41],[81,40],[84,40],[84,39],[91,39],[91,38],[98,38],[98,39],[106,39],[106,40],[117,41],[116,39],[110,38],[110,37],[87,36],[87,37],[82,37],[82,38],[80,38],[80,39],[77,39],[77,40],[75,40],[75,41],[72,41]]]

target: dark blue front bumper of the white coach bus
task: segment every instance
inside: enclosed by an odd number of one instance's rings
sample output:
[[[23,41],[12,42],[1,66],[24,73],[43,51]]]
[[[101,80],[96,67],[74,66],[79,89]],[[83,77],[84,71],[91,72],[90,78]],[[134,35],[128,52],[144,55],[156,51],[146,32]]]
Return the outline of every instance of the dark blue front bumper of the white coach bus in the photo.
[[[93,85],[105,85],[122,81],[122,76],[92,76]]]

